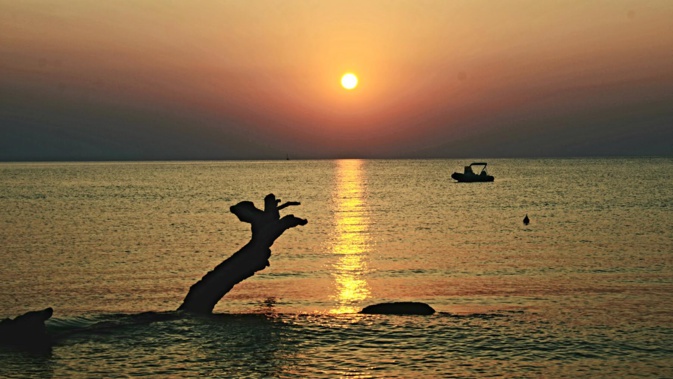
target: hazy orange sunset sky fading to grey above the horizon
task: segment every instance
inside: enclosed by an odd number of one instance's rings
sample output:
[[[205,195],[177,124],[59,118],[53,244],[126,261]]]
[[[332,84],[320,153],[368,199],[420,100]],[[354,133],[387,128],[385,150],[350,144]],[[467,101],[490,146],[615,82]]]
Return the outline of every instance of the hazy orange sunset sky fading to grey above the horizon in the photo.
[[[0,0],[0,160],[286,154],[673,155],[673,1]]]

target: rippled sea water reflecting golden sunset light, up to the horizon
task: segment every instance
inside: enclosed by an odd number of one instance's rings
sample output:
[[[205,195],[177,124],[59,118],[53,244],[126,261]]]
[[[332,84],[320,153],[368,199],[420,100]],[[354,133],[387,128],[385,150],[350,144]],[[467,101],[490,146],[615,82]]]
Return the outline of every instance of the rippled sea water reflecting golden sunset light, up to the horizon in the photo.
[[[467,163],[0,164],[0,316],[63,336],[0,376],[673,376],[673,159]],[[213,317],[172,313],[268,193],[309,224]],[[356,313],[384,301],[438,313]]]

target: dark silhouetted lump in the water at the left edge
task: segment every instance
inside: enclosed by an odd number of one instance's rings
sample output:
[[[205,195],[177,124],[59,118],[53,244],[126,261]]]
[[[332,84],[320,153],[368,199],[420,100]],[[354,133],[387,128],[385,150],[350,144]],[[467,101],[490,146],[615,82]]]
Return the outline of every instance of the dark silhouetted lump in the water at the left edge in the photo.
[[[26,349],[48,348],[52,341],[44,322],[53,313],[53,309],[46,308],[0,321],[0,344]]]

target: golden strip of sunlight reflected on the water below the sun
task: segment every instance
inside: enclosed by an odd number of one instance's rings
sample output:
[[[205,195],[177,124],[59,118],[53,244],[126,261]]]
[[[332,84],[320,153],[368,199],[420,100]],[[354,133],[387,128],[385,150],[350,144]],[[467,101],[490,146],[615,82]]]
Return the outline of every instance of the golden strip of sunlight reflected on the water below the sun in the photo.
[[[369,248],[367,228],[369,217],[361,160],[337,162],[335,202],[335,230],[332,254],[338,259],[332,267],[336,292],[336,308],[330,313],[354,313],[370,291],[365,273]]]

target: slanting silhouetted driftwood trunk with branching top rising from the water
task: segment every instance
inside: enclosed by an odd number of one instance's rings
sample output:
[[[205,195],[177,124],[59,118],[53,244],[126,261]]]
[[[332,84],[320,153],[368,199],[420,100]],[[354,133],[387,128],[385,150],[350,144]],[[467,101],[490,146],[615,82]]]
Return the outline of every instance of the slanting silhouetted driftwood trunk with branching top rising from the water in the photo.
[[[239,220],[252,225],[250,242],[191,286],[178,310],[209,314],[236,284],[269,266],[274,241],[287,229],[308,222],[294,215],[281,218],[281,209],[299,203],[279,203],[279,199],[269,194],[264,198],[264,210],[257,209],[251,201],[243,201],[230,208]]]

